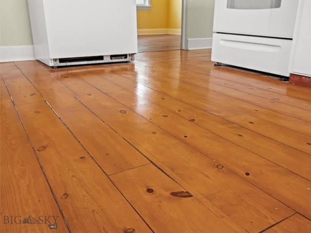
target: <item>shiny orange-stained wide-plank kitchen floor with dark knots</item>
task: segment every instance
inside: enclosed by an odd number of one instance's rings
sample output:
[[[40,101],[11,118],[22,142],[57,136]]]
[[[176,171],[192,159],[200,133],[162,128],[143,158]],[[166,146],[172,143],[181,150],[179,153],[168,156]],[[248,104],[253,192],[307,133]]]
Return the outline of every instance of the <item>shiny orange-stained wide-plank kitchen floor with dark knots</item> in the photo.
[[[0,232],[311,232],[311,88],[213,64],[1,63]]]

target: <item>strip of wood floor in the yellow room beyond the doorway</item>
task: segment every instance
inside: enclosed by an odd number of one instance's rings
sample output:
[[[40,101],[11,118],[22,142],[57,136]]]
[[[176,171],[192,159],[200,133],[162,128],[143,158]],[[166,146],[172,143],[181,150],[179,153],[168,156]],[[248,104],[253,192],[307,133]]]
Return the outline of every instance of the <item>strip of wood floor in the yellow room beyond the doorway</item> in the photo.
[[[180,50],[181,35],[138,35],[138,52]]]

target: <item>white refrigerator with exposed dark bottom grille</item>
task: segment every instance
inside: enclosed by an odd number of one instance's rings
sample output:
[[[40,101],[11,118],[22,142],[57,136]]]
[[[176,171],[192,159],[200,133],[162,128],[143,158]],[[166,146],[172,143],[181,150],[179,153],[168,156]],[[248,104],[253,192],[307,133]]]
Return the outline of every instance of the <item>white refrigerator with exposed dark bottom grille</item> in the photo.
[[[35,58],[50,67],[129,62],[136,0],[28,0]]]

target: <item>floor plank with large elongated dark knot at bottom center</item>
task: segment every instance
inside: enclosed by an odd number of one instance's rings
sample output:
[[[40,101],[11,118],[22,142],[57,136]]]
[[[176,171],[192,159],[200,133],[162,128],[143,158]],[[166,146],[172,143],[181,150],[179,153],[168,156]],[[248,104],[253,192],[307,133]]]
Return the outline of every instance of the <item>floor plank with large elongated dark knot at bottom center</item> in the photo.
[[[154,232],[235,232],[154,165],[110,178]]]

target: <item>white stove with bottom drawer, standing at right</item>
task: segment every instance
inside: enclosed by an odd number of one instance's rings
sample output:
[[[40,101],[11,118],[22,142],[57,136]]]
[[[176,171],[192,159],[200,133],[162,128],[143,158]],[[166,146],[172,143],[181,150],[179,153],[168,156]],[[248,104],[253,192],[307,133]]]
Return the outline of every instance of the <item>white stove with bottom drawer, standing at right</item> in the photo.
[[[297,7],[298,0],[215,0],[211,60],[288,77]]]

